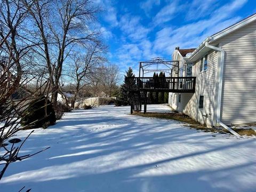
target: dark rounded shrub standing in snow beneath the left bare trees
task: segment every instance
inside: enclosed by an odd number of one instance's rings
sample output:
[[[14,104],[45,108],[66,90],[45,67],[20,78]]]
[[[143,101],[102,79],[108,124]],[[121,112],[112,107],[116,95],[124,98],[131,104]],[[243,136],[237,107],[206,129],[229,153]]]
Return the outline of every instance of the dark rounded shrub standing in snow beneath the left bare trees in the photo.
[[[46,128],[49,125],[54,125],[55,122],[56,116],[52,103],[47,99],[46,105],[46,98],[44,95],[41,95],[37,99],[31,101],[28,108],[23,111],[21,117],[21,125],[28,125],[31,129],[39,127]]]

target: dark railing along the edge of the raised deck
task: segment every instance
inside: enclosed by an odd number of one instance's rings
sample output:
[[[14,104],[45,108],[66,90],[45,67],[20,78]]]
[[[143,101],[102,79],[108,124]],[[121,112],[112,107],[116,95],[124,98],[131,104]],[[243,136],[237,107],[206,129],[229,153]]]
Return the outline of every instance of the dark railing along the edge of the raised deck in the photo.
[[[131,91],[194,93],[196,77],[126,77],[125,84]]]

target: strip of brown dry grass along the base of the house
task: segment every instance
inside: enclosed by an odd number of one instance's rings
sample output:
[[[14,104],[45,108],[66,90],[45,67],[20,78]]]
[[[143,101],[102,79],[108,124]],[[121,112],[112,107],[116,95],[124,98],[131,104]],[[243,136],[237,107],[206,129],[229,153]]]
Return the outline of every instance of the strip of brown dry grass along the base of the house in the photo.
[[[204,132],[213,132],[213,133],[222,133],[227,134],[229,133],[225,129],[218,129],[218,128],[208,128],[203,126],[202,124],[196,122],[194,119],[190,118],[188,115],[182,113],[156,113],[156,112],[147,112],[146,114],[143,113],[133,113],[133,115],[139,115],[142,117],[153,117],[153,118],[161,118],[161,119],[172,119],[175,121],[186,123],[191,128],[196,130],[201,130]],[[248,136],[256,136],[256,132],[252,129],[233,129],[240,135],[248,135]]]

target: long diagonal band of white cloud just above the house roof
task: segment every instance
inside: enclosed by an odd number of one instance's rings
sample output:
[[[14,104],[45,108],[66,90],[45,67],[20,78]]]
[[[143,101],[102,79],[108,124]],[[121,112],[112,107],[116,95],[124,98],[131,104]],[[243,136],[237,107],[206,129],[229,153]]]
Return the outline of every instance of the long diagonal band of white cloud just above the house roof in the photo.
[[[245,0],[236,0],[213,11],[209,19],[199,20],[178,28],[166,27],[158,31],[154,42],[154,51],[164,51],[171,55],[175,46],[180,46],[181,49],[197,47],[207,36],[240,20],[239,17],[233,18],[232,14],[245,2]]]

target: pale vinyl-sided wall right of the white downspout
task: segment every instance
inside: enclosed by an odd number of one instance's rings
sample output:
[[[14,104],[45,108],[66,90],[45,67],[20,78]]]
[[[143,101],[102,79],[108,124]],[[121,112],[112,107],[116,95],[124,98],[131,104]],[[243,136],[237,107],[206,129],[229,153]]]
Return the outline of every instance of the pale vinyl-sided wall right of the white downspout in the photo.
[[[256,21],[221,38],[225,50],[222,121],[256,122]]]

